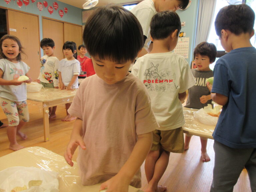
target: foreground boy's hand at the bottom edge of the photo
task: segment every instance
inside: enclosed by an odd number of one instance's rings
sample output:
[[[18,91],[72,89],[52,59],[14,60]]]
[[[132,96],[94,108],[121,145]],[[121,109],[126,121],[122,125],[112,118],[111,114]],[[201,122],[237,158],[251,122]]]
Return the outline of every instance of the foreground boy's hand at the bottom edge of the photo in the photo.
[[[100,191],[107,188],[106,192],[128,192],[130,181],[125,181],[117,175],[102,183],[100,186]]]

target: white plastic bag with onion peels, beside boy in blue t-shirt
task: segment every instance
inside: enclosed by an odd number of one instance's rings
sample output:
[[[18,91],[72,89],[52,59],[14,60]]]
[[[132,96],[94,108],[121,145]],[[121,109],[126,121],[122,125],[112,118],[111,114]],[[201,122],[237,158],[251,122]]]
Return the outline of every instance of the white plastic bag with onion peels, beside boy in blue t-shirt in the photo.
[[[216,125],[218,121],[218,117],[208,115],[203,108],[199,109],[198,111],[195,111],[194,117],[195,119],[206,125]]]

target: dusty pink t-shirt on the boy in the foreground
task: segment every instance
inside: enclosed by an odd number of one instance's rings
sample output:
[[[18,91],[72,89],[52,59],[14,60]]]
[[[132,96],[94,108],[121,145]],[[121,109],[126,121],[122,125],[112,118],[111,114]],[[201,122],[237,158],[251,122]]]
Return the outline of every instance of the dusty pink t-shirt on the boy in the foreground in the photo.
[[[77,163],[83,185],[115,176],[131,155],[137,135],[158,128],[144,85],[134,75],[108,85],[96,74],[80,84],[69,114],[83,120],[86,150]],[[131,181],[141,187],[140,170]]]

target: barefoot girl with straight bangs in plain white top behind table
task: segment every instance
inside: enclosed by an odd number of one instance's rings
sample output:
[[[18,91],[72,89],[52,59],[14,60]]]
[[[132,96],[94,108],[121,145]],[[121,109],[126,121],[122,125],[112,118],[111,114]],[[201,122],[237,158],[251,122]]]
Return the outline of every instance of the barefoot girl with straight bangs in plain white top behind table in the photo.
[[[76,90],[78,88],[78,75],[80,74],[80,62],[76,59],[76,44],[73,41],[66,41],[63,45],[65,59],[59,65],[60,89]],[[67,116],[62,121],[72,121],[75,117],[68,113],[71,103],[66,103]]]

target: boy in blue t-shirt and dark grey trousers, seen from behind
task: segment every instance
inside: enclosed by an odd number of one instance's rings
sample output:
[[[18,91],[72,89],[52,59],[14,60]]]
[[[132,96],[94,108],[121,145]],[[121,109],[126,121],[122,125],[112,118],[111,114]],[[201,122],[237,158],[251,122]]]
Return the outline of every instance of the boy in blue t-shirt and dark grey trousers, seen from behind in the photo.
[[[215,163],[211,192],[233,191],[245,167],[251,190],[256,191],[256,49],[255,14],[245,4],[222,8],[215,30],[228,53],[214,68],[212,100],[223,109],[213,132]]]

